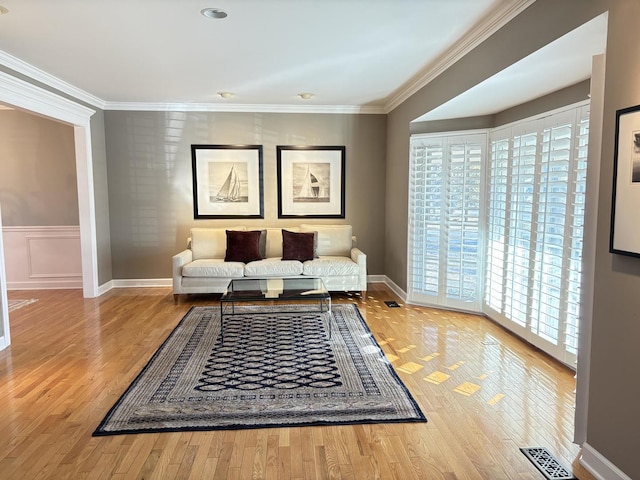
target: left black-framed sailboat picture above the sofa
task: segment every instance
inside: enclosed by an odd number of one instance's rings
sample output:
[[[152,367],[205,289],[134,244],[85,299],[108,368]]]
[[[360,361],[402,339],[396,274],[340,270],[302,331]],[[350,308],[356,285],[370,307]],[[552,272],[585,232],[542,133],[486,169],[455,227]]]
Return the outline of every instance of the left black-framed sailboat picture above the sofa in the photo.
[[[262,145],[191,145],[193,218],[264,218]]]

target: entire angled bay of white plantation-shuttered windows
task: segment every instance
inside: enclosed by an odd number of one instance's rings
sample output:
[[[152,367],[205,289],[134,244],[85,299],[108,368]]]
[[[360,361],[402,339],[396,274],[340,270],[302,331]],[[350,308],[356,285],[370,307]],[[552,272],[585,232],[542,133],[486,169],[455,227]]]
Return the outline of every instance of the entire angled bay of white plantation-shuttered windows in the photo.
[[[588,106],[411,139],[408,300],[482,311],[577,354]],[[486,181],[484,180],[486,177]]]

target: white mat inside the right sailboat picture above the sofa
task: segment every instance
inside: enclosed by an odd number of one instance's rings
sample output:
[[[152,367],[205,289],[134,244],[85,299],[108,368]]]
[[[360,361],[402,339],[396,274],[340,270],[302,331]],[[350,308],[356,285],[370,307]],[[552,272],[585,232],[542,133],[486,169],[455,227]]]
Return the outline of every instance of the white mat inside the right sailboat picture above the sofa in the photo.
[[[342,213],[342,151],[341,150],[281,150],[282,215],[341,215]],[[320,170],[329,166],[329,200],[297,202],[294,198],[294,167],[314,164]]]

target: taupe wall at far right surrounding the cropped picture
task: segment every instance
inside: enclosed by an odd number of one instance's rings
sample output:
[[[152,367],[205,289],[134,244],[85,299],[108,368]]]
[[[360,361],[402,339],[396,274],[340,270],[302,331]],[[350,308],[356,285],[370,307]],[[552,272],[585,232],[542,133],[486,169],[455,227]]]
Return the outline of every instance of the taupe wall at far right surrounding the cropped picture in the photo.
[[[640,104],[640,2],[611,2],[591,345],[587,441],[640,478],[640,259],[609,253],[615,112]],[[595,213],[595,212],[593,212]],[[633,367],[632,367],[633,366]],[[629,368],[631,367],[631,368]]]

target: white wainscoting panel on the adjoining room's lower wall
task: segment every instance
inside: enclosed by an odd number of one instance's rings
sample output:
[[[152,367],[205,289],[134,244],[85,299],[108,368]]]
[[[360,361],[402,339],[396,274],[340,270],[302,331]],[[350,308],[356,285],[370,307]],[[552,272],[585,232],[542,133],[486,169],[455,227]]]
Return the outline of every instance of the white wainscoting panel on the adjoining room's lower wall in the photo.
[[[82,288],[80,227],[3,227],[8,290]]]

